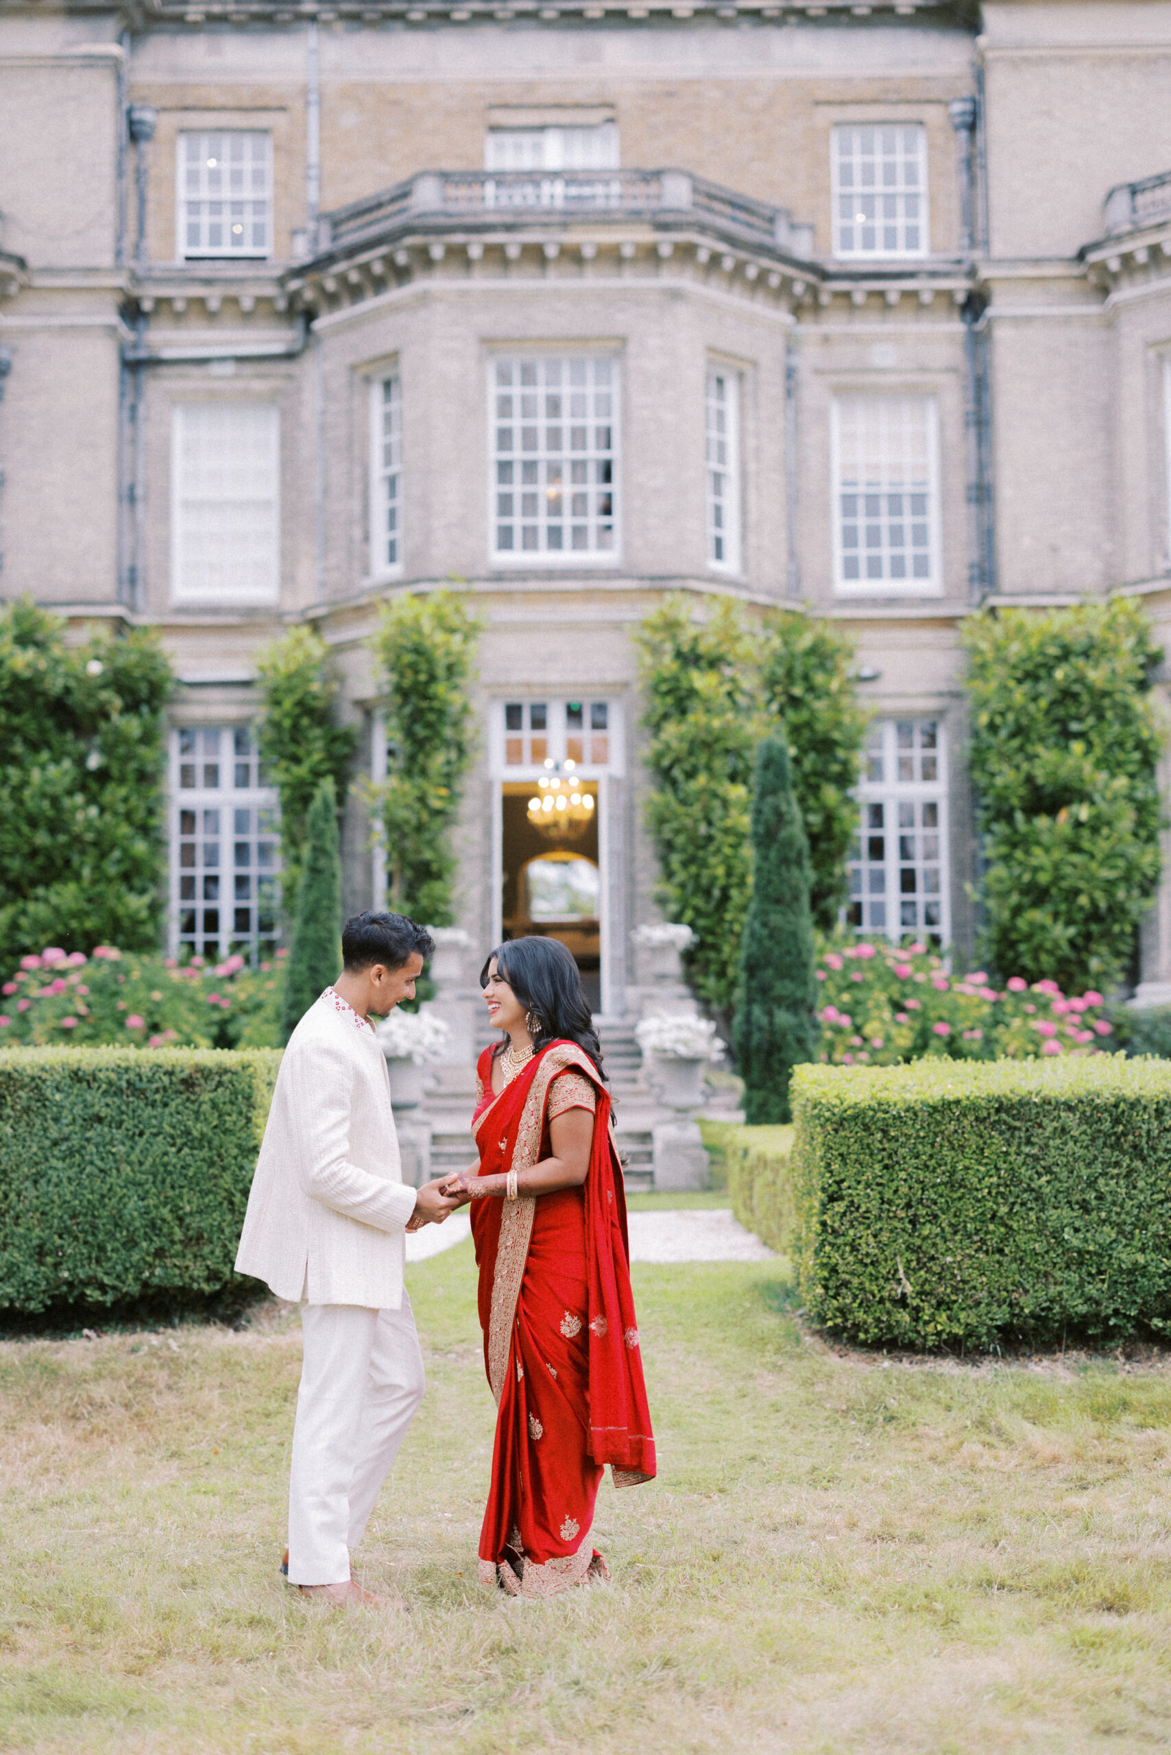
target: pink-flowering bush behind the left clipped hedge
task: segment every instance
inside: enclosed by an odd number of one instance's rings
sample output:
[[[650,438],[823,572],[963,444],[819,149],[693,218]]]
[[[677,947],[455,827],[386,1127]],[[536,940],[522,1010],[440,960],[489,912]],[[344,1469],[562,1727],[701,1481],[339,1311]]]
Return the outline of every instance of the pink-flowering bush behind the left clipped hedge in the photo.
[[[98,944],[91,956],[47,946],[21,958],[0,993],[0,1048],[277,1048],[281,960],[249,969],[202,956],[139,956]]]

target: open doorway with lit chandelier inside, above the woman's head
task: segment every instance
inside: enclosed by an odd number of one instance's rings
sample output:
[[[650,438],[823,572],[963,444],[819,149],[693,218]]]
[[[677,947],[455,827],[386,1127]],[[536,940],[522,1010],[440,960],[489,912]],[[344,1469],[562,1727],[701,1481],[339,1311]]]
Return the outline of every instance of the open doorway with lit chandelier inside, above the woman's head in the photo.
[[[574,776],[504,781],[502,939],[560,939],[602,1009],[599,783]]]

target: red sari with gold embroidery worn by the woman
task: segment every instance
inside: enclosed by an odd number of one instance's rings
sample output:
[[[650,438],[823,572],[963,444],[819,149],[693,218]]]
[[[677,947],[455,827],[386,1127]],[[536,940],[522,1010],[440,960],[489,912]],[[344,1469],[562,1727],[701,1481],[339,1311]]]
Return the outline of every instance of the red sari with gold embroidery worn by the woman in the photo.
[[[604,1464],[614,1486],[655,1476],[621,1165],[609,1092],[576,1042],[550,1042],[499,1097],[492,1049],[478,1072],[481,1176],[548,1158],[550,1116],[593,1107],[581,1188],[471,1204],[485,1367],[497,1399],[479,1576],[518,1597],[550,1597],[590,1569]]]

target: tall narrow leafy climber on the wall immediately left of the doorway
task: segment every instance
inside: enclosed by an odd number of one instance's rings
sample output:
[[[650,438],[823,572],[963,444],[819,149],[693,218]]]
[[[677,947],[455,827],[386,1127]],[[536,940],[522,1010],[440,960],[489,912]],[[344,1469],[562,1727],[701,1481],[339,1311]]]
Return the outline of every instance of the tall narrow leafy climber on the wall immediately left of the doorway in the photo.
[[[381,818],[390,907],[449,927],[455,853],[474,732],[469,686],[481,623],[453,591],[397,597],[370,649],[386,704],[386,779],[367,786]]]

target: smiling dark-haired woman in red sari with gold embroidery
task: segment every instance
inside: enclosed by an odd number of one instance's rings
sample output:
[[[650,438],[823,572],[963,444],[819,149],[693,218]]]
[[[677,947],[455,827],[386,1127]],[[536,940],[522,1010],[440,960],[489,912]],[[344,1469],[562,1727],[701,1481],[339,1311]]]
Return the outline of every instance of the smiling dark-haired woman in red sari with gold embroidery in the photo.
[[[578,965],[513,939],[481,974],[506,1039],[478,1067],[471,1202],[485,1367],[497,1400],[479,1576],[514,1597],[607,1578],[590,1541],[604,1464],[655,1476],[627,1206],[609,1092]]]

